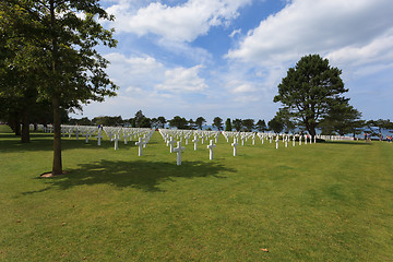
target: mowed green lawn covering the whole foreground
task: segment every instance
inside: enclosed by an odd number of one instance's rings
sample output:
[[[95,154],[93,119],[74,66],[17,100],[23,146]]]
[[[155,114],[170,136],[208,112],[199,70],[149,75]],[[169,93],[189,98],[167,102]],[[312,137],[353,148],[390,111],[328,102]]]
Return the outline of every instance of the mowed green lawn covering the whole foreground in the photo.
[[[248,141],[214,159],[192,142],[176,166],[158,132],[134,142],[0,127],[0,261],[393,261],[393,143],[287,148]],[[266,252],[266,250],[269,252]]]

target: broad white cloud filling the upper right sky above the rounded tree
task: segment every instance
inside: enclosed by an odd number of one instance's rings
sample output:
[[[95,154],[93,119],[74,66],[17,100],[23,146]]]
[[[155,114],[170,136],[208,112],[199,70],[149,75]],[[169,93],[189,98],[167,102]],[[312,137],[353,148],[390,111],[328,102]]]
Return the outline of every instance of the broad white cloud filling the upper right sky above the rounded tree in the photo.
[[[227,57],[271,66],[308,53],[361,48],[392,27],[392,13],[391,0],[294,0],[248,32]]]

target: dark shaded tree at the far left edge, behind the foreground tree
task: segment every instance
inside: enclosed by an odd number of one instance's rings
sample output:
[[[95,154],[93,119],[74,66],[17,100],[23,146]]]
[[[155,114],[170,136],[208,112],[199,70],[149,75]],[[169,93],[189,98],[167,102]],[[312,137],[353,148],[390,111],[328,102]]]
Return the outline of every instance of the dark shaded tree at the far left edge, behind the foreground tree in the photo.
[[[21,141],[29,142],[28,112],[37,99],[37,64],[32,62],[37,47],[32,40],[13,28],[26,20],[26,14],[16,4],[0,2],[0,99],[2,118],[7,118]],[[26,33],[28,34],[28,33]]]

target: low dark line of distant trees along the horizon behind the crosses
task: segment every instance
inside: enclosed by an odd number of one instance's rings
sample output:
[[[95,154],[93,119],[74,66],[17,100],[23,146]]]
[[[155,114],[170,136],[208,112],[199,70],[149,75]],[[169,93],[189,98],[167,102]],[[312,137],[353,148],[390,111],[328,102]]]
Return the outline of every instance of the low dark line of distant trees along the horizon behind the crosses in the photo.
[[[203,117],[198,117],[195,120],[187,120],[183,117],[175,116],[172,119],[166,119],[160,116],[157,118],[148,118],[143,115],[142,110],[139,110],[133,118],[122,119],[121,116],[100,116],[94,117],[93,119],[84,118],[69,118],[64,123],[79,124],[79,126],[105,126],[105,127],[131,127],[131,128],[176,128],[180,130],[210,130],[205,128],[207,121]],[[259,119],[257,122],[254,119],[234,119],[227,118],[225,123],[221,117],[215,117],[213,122],[210,124],[219,131],[245,131],[245,132],[265,132],[272,131],[274,133],[295,133],[296,131],[306,131],[301,126],[296,126],[293,122],[288,122],[287,119],[275,116],[267,123],[263,119]],[[374,131],[378,129],[378,132]],[[321,124],[321,133],[331,134],[360,134],[361,132],[370,132],[372,135],[379,135],[383,129],[393,130],[393,122],[390,119],[378,119],[378,120],[358,120],[355,124],[346,126],[344,123],[337,126],[337,129],[333,129],[332,126]]]

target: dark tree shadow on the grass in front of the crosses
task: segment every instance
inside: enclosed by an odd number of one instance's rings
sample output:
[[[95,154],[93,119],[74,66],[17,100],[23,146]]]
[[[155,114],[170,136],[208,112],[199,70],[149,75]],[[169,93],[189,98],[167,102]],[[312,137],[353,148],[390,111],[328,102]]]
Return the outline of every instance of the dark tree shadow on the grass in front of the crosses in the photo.
[[[163,191],[159,183],[174,178],[215,177],[226,178],[221,172],[235,172],[217,163],[182,162],[181,166],[159,162],[100,160],[81,164],[78,169],[68,169],[68,175],[45,178],[49,188],[67,190],[78,186],[111,184],[117,188],[138,188],[145,191]],[[38,191],[37,191],[38,192]],[[24,194],[35,193],[25,192]]]

